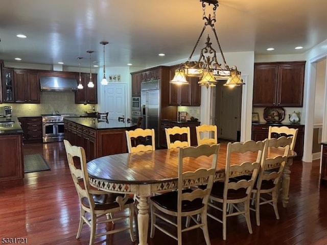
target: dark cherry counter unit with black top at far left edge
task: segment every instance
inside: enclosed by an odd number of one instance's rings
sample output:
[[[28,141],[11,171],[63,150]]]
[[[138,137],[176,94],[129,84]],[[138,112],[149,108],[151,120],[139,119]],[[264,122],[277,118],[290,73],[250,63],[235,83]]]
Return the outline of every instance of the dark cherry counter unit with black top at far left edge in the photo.
[[[22,129],[17,118],[0,118],[0,186],[23,184]]]

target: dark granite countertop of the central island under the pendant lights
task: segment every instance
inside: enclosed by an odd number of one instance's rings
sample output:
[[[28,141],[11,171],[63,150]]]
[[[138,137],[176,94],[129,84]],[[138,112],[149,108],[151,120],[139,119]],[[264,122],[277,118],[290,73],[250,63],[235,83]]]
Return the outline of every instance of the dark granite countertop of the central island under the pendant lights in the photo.
[[[132,128],[136,127],[136,124],[133,122],[118,121],[118,119],[108,119],[98,120],[94,117],[64,117],[66,121],[72,121],[76,124],[80,124],[82,126],[95,129],[95,130],[104,130],[104,129],[124,129],[124,128]]]

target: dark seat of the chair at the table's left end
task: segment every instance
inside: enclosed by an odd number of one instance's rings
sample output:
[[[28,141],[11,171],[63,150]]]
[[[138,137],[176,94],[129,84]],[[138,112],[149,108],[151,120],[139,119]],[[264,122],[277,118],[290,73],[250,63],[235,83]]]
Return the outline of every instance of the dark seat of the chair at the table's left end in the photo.
[[[105,210],[105,209],[112,209],[112,208],[118,208],[119,203],[115,201],[116,197],[118,197],[119,194],[103,194],[103,195],[94,195],[93,199],[95,201],[95,210]],[[133,203],[134,200],[132,198],[129,198],[125,205]],[[86,208],[90,208],[90,204],[87,200],[87,198],[82,198],[82,205]]]

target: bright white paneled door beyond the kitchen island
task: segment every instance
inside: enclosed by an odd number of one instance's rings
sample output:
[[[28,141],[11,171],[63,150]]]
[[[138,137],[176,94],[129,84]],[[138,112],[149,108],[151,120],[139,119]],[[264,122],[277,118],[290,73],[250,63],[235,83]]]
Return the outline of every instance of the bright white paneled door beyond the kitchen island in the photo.
[[[104,89],[104,110],[109,119],[118,119],[126,115],[126,86],[122,84],[106,85]]]

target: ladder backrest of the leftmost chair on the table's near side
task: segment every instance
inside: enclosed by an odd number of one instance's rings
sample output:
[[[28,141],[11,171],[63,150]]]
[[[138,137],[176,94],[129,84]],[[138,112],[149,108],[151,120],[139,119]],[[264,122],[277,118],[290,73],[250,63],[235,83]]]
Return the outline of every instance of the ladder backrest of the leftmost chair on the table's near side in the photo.
[[[202,204],[207,205],[209,195],[216,175],[220,144],[202,144],[197,147],[189,146],[179,149],[178,157],[178,203],[177,212],[182,210],[183,201],[193,201],[197,198],[202,199]],[[212,157],[209,168],[199,168],[195,171],[183,171],[185,158]],[[187,161],[187,160],[185,160]],[[197,188],[198,185],[207,183],[204,189]],[[185,188],[192,191],[183,191]]]

